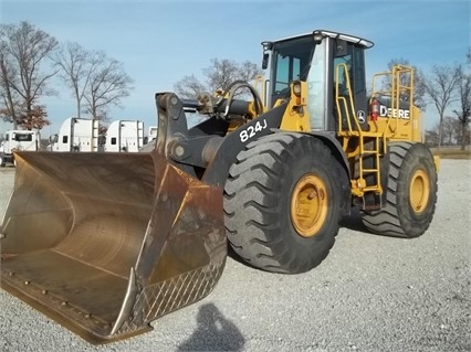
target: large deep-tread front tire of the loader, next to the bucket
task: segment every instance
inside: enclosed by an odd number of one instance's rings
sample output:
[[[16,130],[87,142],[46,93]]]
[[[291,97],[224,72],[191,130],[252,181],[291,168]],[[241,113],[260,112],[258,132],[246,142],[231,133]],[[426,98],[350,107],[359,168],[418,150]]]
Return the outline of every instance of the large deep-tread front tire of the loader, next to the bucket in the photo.
[[[346,171],[331,149],[308,135],[276,132],[249,143],[237,159],[224,186],[224,223],[236,254],[274,273],[303,273],[321,264],[334,245],[342,190],[348,186]],[[325,196],[326,211],[313,233],[300,235],[292,194],[300,194],[306,175],[321,185],[317,194]]]

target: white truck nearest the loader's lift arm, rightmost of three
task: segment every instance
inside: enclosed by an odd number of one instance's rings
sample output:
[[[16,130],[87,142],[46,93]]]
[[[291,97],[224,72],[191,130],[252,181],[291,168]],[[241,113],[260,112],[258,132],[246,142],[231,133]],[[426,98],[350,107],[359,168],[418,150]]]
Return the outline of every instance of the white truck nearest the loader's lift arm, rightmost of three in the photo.
[[[137,152],[144,145],[144,122],[138,120],[113,121],[106,131],[104,151]]]

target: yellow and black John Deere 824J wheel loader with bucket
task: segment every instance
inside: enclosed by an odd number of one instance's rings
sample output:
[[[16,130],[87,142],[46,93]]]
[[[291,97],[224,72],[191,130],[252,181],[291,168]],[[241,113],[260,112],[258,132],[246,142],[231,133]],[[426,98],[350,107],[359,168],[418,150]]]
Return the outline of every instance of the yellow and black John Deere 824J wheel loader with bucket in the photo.
[[[156,94],[157,140],[139,153],[18,151],[2,288],[106,343],[206,297],[229,246],[296,274],[354,209],[374,234],[423,234],[439,160],[421,141],[414,71],[377,74],[368,92],[370,41],[316,30],[262,45],[259,89]],[[206,119],[189,128],[191,109]]]

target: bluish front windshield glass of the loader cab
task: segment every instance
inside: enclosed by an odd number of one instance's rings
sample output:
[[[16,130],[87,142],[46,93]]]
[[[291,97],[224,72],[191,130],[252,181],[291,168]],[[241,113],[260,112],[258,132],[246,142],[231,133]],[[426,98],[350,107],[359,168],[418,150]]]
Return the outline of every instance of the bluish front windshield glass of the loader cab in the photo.
[[[314,47],[312,35],[274,43],[273,95],[287,93],[292,81],[306,81]]]

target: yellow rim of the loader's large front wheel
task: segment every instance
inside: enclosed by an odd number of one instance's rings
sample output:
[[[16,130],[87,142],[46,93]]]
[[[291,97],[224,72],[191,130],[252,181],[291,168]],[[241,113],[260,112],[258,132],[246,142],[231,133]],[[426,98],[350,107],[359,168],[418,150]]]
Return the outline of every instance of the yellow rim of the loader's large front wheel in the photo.
[[[323,180],[310,173],[302,177],[291,196],[291,220],[297,234],[313,237],[327,217],[327,188]]]

